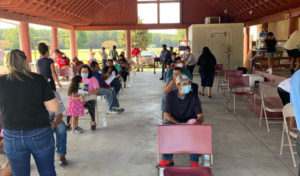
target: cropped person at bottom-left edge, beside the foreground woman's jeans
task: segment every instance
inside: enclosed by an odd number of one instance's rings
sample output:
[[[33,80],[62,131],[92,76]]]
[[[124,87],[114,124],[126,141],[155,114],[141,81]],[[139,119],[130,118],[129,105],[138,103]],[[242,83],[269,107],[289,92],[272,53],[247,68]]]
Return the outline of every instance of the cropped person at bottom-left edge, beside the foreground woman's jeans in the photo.
[[[1,118],[1,112],[0,112],[0,118]],[[4,136],[3,136],[3,129],[0,124],[0,170],[1,170],[1,176],[12,176],[11,167],[8,161],[8,158],[6,157],[4,150],[3,150],[3,143],[4,143]]]

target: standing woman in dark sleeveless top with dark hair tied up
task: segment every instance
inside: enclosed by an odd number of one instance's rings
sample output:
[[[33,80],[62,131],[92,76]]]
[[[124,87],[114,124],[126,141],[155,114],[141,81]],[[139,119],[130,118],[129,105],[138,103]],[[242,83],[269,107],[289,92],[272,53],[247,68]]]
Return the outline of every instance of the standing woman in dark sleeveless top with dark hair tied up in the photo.
[[[39,73],[39,74],[43,75],[44,77],[50,79],[49,83],[52,87],[52,90],[56,91],[56,86],[55,86],[53,76],[56,79],[57,84],[60,88],[61,88],[61,85],[59,83],[59,79],[58,79],[56,71],[55,71],[54,61],[49,58],[49,48],[45,43],[40,43],[38,49],[39,49],[39,52],[41,54],[41,58],[39,58],[36,61],[37,73]]]

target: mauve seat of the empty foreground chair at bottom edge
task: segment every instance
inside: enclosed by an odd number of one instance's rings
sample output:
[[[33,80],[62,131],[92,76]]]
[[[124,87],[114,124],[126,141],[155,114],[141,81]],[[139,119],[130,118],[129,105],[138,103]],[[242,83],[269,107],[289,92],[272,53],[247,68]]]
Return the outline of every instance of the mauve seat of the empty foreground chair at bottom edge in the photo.
[[[210,167],[168,167],[164,176],[213,176]]]

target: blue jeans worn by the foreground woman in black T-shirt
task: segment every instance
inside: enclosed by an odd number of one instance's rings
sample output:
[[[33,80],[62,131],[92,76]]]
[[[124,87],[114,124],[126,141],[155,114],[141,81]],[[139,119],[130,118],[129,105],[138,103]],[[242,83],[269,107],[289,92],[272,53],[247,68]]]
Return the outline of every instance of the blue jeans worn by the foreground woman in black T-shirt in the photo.
[[[56,175],[54,137],[50,126],[21,131],[4,129],[4,151],[14,176],[30,176],[31,154],[39,175]]]

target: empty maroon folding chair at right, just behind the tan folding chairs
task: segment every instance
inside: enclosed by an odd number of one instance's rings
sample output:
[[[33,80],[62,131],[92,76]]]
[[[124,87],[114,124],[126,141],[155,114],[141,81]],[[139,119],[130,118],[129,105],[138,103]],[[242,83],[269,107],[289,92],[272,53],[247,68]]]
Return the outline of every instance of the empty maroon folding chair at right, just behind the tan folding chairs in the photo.
[[[242,88],[241,92],[232,92],[232,88]],[[253,92],[244,91],[245,88],[250,88],[249,76],[234,76],[228,77],[228,99],[227,99],[227,111],[230,111],[228,108],[228,102],[230,99],[230,93],[233,94],[233,114],[235,114],[235,96],[251,96],[254,95]],[[248,99],[246,99],[247,101]],[[226,112],[227,112],[226,111]]]

